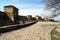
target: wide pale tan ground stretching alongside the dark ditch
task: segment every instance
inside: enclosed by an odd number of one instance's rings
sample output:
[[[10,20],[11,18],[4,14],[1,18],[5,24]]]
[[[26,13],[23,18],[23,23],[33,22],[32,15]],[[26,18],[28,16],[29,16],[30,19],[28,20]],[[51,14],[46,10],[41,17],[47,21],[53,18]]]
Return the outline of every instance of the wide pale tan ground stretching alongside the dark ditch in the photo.
[[[0,40],[51,40],[51,31],[56,26],[50,24],[38,22],[26,28],[4,33],[0,36]]]

